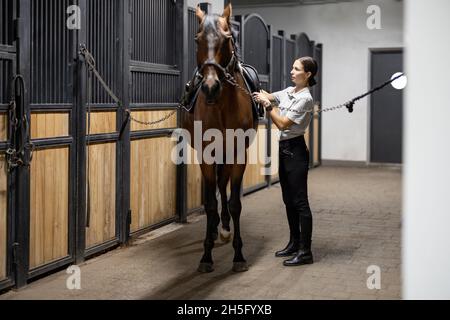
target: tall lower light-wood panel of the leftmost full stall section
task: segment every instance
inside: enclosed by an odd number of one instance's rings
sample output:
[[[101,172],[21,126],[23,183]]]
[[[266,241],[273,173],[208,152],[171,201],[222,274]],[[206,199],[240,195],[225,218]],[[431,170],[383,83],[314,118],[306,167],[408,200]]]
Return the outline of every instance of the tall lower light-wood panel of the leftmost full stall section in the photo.
[[[30,269],[68,255],[69,148],[34,152],[30,186]]]

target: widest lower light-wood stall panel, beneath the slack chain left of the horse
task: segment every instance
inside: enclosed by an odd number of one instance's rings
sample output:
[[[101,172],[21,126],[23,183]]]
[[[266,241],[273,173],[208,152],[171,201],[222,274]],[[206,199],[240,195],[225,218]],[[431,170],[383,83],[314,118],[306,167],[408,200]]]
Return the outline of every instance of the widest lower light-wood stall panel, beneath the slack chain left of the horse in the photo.
[[[168,137],[131,141],[131,231],[175,215],[175,142]]]

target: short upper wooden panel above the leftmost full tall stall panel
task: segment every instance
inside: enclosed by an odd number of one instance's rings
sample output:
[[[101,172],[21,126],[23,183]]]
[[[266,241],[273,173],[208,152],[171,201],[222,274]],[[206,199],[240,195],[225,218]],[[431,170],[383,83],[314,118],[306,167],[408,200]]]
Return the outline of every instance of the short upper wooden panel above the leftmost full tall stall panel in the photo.
[[[31,113],[31,138],[44,139],[69,135],[69,113]]]

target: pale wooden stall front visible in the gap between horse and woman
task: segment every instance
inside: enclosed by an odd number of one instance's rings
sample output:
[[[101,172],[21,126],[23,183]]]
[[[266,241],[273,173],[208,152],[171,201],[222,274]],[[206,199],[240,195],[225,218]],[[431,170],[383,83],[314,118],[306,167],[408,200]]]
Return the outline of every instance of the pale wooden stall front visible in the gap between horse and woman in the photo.
[[[261,129],[265,129],[266,125],[264,124],[260,124],[258,126],[258,134],[257,134],[257,138],[253,140],[252,144],[257,144],[258,148],[256,149],[258,154],[263,152],[263,154],[267,154],[266,151],[266,134],[267,131],[266,130],[261,130]],[[263,148],[263,150],[260,150],[260,148]],[[249,148],[250,149],[250,148]],[[256,185],[259,185],[261,183],[264,183],[266,181],[266,176],[262,173],[264,173],[263,169],[264,169],[264,164],[261,162],[260,160],[260,156],[257,155],[257,159],[258,159],[258,163],[256,164],[247,164],[247,168],[245,169],[245,173],[244,173],[244,179],[243,179],[243,188],[244,190],[250,187],[254,187]]]

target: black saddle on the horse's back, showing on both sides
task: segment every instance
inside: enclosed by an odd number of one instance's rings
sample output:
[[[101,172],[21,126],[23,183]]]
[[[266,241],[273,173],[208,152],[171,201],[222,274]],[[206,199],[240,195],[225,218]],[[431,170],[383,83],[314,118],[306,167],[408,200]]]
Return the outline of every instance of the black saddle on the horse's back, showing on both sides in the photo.
[[[258,72],[254,67],[248,64],[240,64],[241,74],[244,78],[245,89],[251,94],[255,91],[261,90],[261,83],[259,81]],[[200,86],[202,83],[202,76],[195,68],[192,79],[186,83],[183,97],[180,104],[192,113],[194,112],[195,103],[197,102],[198,94],[200,93]],[[255,118],[264,118],[264,108],[252,99],[252,110]]]

